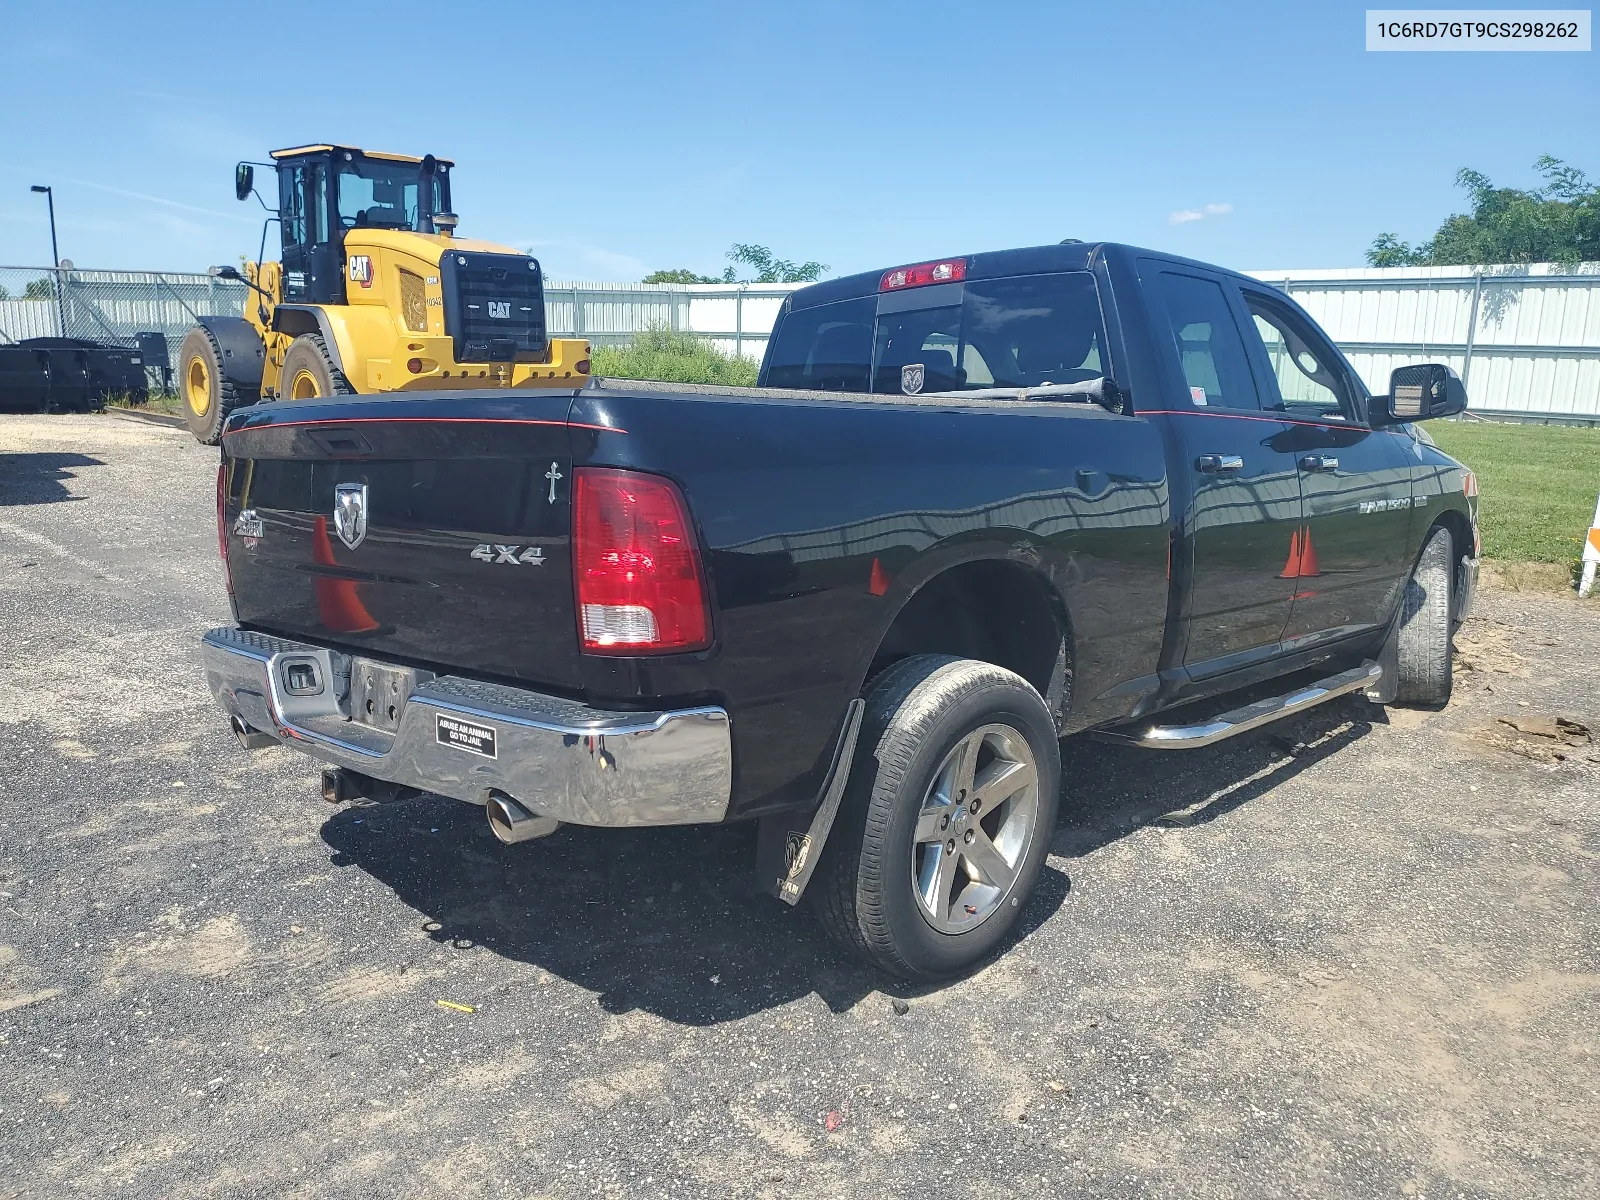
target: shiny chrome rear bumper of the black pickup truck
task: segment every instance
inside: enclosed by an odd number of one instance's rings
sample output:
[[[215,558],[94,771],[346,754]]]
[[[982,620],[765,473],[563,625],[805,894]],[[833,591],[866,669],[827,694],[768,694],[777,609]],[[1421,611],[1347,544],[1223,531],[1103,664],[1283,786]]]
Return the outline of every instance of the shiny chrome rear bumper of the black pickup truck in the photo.
[[[202,651],[211,693],[230,717],[374,779],[478,805],[504,792],[539,816],[581,826],[710,824],[728,811],[733,746],[723,709],[610,712],[389,667],[386,678],[411,685],[386,730],[350,720],[349,680],[352,664],[387,664],[242,629],[213,629]],[[320,683],[310,694],[309,680]]]

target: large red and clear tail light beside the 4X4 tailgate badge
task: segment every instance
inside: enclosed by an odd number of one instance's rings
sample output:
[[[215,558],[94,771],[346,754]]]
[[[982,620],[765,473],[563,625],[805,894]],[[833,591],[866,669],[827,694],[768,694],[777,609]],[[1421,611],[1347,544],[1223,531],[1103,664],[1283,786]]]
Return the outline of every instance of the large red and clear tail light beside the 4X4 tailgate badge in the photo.
[[[582,648],[658,654],[710,643],[688,509],[658,475],[573,472],[573,581]]]

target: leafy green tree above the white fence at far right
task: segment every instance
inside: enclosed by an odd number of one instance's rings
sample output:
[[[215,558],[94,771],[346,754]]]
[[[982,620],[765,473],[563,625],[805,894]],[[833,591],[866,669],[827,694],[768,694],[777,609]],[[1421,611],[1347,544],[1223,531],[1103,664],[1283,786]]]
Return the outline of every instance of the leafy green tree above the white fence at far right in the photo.
[[[1544,154],[1533,168],[1544,187],[1494,187],[1482,171],[1456,171],[1472,197],[1472,213],[1445,218],[1432,238],[1411,245],[1379,234],[1366,250],[1374,267],[1446,267],[1490,262],[1600,261],[1600,184],[1576,166]]]

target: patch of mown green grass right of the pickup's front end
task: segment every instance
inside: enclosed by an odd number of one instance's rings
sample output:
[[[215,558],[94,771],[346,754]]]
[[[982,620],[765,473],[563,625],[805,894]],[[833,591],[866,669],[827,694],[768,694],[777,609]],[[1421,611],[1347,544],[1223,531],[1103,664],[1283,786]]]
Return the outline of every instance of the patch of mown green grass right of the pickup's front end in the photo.
[[[1600,491],[1600,429],[1430,421],[1427,432],[1477,472],[1485,558],[1578,562]]]

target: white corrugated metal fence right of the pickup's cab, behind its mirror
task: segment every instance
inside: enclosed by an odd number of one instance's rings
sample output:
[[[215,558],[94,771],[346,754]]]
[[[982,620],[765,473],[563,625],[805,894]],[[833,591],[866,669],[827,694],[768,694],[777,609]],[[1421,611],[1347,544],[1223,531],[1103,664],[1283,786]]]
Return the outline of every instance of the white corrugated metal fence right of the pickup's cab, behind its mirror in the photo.
[[[1600,419],[1600,262],[1250,274],[1315,317],[1376,394],[1395,366],[1445,362],[1472,411]]]

